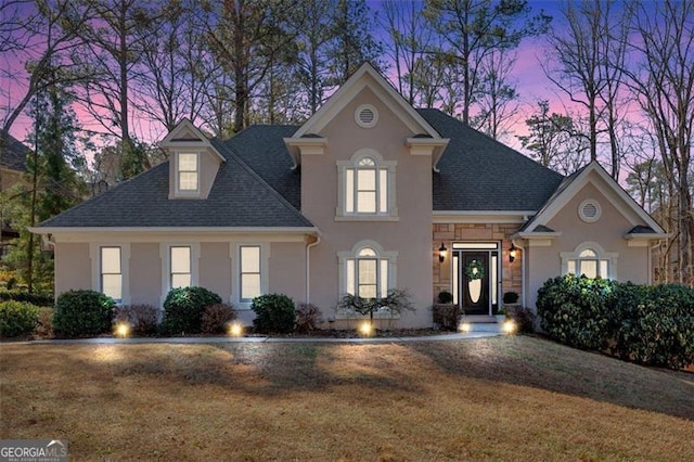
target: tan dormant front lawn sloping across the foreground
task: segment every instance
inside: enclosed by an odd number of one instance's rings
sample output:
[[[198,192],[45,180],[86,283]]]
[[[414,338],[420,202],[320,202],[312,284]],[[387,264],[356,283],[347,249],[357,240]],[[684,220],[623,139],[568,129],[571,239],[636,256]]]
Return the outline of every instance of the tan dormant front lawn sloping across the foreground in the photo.
[[[694,375],[532,337],[0,345],[0,438],[70,460],[694,460]]]

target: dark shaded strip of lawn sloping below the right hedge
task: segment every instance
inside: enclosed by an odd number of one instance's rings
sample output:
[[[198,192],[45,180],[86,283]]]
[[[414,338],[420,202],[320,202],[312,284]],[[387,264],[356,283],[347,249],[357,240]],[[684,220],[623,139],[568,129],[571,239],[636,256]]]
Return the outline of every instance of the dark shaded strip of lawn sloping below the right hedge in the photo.
[[[694,374],[644,368],[550,341],[412,343],[449,374],[541,388],[694,420]]]

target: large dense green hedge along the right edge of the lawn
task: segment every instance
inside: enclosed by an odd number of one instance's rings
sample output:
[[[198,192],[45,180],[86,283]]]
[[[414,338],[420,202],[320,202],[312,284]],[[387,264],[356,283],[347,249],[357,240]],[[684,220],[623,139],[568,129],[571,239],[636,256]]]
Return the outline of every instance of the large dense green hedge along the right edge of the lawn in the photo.
[[[694,290],[577,278],[538,292],[541,326],[555,341],[653,365],[694,363]]]

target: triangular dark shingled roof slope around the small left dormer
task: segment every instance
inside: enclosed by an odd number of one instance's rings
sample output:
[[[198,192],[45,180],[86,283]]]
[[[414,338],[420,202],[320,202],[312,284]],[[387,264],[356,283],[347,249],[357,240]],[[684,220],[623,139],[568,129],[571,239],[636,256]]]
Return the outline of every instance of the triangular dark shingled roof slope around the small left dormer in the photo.
[[[160,164],[43,221],[40,228],[312,228],[224,144],[227,159],[206,200],[169,200],[169,165]]]

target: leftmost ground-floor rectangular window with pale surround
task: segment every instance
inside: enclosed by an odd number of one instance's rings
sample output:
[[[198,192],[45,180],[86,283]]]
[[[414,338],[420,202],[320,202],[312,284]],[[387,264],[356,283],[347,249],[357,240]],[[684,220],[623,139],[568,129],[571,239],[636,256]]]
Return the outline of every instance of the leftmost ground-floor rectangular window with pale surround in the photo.
[[[92,242],[91,288],[113,298],[118,305],[130,303],[130,244]]]

